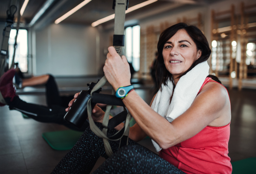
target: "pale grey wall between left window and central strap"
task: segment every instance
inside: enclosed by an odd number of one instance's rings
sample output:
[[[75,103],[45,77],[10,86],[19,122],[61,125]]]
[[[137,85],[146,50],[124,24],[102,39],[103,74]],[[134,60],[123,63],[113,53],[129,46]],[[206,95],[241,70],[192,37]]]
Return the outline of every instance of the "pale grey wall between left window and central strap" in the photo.
[[[35,32],[36,74],[86,76],[98,74],[97,29],[91,26],[52,24]],[[33,46],[33,45],[32,45]]]

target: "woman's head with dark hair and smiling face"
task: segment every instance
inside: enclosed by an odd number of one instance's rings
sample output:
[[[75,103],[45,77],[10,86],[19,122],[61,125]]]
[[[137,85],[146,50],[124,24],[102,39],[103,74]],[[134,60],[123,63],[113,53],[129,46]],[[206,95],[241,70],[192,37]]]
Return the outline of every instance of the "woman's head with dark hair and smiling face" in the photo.
[[[157,51],[159,53],[156,64],[159,88],[162,83],[166,85],[168,78],[177,83],[180,77],[199,63],[206,61],[211,54],[207,39],[201,30],[185,23],[178,23],[163,31],[157,44]],[[168,64],[169,61],[180,61],[180,63]],[[168,69],[165,68],[165,63]],[[175,74],[174,78],[172,74]],[[220,83],[215,76],[211,77]]]

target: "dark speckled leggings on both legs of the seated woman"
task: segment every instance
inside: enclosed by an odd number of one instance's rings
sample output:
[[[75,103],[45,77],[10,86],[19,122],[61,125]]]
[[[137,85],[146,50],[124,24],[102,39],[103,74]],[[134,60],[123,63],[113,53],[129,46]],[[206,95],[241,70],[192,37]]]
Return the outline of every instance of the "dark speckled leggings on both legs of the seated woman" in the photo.
[[[96,125],[102,129],[101,123]],[[115,133],[113,129],[108,136]],[[107,160],[93,174],[184,174],[131,139],[128,140],[129,145],[119,150],[119,141],[109,142],[115,153],[108,158],[102,138],[97,137],[88,127],[51,174],[89,174],[100,156]]]

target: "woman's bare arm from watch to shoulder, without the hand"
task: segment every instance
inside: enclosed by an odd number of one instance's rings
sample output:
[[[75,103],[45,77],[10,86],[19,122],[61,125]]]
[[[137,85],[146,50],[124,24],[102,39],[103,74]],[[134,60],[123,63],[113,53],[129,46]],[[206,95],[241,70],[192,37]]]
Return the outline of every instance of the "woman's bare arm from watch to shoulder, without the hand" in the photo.
[[[229,102],[226,93],[217,83],[206,86],[195,98],[192,106],[172,123],[150,108],[135,91],[129,93],[123,102],[145,134],[166,149],[193,137],[221,117]],[[229,122],[227,118],[224,125]]]

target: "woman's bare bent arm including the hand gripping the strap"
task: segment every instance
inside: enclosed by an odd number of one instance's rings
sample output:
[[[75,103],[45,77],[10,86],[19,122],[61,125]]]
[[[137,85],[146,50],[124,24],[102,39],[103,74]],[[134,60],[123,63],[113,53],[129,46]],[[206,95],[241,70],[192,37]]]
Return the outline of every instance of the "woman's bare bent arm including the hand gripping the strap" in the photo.
[[[130,79],[125,77],[125,57],[120,59],[113,47],[109,47],[107,57],[103,70],[113,88],[116,90],[120,86],[130,85]],[[207,84],[195,98],[192,106],[172,123],[148,106],[135,91],[131,91],[123,102],[145,134],[161,148],[169,148],[193,137],[220,117],[223,109],[227,109],[228,101],[227,92],[222,86],[218,83]]]

